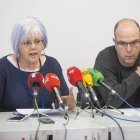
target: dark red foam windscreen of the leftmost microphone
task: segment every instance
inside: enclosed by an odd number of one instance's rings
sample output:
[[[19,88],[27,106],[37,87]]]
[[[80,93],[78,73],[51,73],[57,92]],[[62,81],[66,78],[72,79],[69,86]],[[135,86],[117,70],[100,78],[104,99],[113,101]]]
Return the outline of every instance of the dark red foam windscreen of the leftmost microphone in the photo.
[[[42,89],[44,87],[43,75],[40,72],[31,73],[28,76],[28,86],[30,88],[38,86],[39,89]]]

